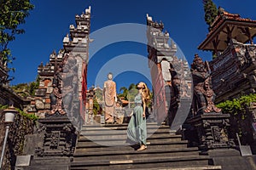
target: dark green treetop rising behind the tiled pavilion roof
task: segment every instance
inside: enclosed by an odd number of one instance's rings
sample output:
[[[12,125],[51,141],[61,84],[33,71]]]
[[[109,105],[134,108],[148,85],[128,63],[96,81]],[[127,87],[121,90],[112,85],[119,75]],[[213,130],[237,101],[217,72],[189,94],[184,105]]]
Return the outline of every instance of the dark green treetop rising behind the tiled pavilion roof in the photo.
[[[211,25],[218,15],[218,8],[212,0],[203,0],[205,21],[208,25],[208,30],[211,31]]]

